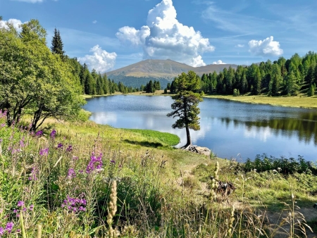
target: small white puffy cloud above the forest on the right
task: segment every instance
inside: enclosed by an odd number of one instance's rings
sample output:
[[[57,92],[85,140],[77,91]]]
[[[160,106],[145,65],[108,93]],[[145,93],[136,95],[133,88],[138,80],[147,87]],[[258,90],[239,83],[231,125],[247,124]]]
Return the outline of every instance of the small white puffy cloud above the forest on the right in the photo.
[[[280,56],[283,50],[280,49],[280,42],[273,41],[273,37],[262,40],[252,39],[249,41],[249,52],[256,56]]]

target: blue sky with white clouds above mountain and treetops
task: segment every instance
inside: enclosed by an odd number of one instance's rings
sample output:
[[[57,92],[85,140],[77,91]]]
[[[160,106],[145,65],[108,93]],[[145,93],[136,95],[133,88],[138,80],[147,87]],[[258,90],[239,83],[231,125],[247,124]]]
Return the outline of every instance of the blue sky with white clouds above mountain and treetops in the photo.
[[[101,73],[147,58],[249,65],[317,48],[317,1],[0,0],[3,21],[35,18],[51,46]]]

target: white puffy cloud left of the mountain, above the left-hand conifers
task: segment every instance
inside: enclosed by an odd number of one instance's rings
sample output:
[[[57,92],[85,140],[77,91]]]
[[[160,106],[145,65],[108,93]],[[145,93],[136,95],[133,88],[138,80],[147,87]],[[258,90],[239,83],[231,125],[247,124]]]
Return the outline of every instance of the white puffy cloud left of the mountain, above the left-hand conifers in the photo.
[[[98,44],[92,47],[90,52],[92,52],[92,55],[78,58],[81,63],[86,63],[90,70],[94,68],[97,72],[104,73],[107,70],[113,69],[117,57],[115,52],[108,53],[101,49]]]

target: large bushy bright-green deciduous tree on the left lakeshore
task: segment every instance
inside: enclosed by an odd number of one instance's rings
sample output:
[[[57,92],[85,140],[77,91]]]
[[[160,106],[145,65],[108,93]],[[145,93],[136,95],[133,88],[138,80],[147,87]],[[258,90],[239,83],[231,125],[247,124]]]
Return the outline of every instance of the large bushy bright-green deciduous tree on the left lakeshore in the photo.
[[[51,53],[46,32],[37,20],[14,27],[0,27],[0,108],[7,123],[18,123],[21,115],[32,115],[31,130],[48,117],[70,118],[80,111],[79,78],[72,67]]]

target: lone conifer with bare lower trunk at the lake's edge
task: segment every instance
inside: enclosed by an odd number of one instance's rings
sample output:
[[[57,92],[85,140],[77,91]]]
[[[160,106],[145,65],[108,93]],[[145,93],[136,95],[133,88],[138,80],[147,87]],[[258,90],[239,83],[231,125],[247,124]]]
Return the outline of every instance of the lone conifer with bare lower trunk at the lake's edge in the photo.
[[[189,129],[200,130],[198,104],[202,99],[197,90],[201,88],[201,80],[194,71],[189,71],[187,74],[182,73],[175,79],[175,87],[177,94],[172,96],[174,103],[171,105],[174,111],[168,113],[167,116],[179,118],[172,125],[174,129],[185,127],[187,143],[183,148],[186,149],[192,144]]]

